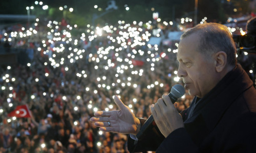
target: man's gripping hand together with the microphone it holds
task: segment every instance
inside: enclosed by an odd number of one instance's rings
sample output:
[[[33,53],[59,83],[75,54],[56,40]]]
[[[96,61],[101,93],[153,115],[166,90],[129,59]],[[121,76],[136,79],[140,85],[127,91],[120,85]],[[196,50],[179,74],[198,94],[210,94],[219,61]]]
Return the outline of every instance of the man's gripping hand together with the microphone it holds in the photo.
[[[175,85],[172,87],[168,96],[165,95],[163,98],[158,99],[157,103],[151,107],[152,115],[141,126],[136,137],[139,140],[143,139],[146,133],[152,130],[154,122],[165,137],[174,130],[184,127],[182,117],[173,105],[184,93],[185,89],[183,86]]]

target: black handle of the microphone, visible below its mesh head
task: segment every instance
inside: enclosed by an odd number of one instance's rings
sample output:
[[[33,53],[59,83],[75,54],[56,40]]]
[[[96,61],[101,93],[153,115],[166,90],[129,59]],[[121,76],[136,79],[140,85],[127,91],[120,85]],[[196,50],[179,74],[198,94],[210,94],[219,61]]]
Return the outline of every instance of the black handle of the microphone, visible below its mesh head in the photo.
[[[168,94],[168,96],[170,97],[170,100],[172,101],[172,103],[174,104],[175,101],[177,100],[177,98],[170,92]],[[165,102],[163,101],[163,103],[165,104]],[[166,106],[166,104],[165,104]],[[145,136],[146,133],[151,130],[154,126],[156,126],[156,122],[154,120],[153,115],[150,115],[150,117],[145,121],[145,123],[140,127],[140,131],[138,132],[138,134],[136,135],[136,138],[138,140],[142,140]]]

